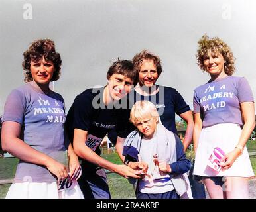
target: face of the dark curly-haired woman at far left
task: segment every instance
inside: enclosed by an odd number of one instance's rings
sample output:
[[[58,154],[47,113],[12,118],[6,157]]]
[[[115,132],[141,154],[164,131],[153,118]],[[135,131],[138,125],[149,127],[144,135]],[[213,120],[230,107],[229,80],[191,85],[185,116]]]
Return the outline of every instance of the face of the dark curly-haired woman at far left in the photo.
[[[33,81],[38,85],[48,85],[54,73],[54,64],[44,58],[38,62],[31,61],[31,75]]]

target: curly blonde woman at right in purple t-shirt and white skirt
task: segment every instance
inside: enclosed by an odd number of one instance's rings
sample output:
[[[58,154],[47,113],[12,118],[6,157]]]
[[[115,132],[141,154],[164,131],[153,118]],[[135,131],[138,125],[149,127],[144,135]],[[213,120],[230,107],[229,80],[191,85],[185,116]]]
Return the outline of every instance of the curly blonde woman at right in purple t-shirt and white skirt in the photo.
[[[223,40],[204,35],[198,45],[198,65],[210,80],[194,91],[193,174],[203,177],[210,198],[248,198],[253,93],[245,78],[232,76],[235,58]]]

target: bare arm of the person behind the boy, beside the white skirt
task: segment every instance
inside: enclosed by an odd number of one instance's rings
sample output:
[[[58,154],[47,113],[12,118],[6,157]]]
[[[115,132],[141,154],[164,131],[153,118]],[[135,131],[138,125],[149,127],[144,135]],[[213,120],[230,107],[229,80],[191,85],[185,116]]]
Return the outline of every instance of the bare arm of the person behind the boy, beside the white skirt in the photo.
[[[194,121],[193,121],[192,111],[190,110],[190,111],[186,111],[185,113],[181,113],[180,117],[184,119],[184,121],[186,121],[187,123],[186,134],[183,142],[184,152],[186,152],[186,150],[188,149],[188,146],[192,142],[192,136],[193,136]]]

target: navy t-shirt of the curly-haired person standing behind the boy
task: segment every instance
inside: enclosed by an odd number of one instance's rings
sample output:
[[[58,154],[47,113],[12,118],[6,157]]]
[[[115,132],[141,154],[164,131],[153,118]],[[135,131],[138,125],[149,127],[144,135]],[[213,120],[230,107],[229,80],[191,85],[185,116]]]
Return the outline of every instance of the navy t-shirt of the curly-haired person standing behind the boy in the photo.
[[[155,95],[140,95],[137,91],[132,90],[126,97],[121,99],[125,103],[121,104],[121,108],[115,110],[117,116],[117,135],[121,138],[126,136],[135,129],[132,123],[129,122],[131,108],[137,101],[147,100],[153,103],[159,113],[162,125],[169,131],[178,134],[175,125],[175,113],[180,115],[190,110],[190,107],[184,101],[182,95],[172,87],[160,86],[159,92]]]

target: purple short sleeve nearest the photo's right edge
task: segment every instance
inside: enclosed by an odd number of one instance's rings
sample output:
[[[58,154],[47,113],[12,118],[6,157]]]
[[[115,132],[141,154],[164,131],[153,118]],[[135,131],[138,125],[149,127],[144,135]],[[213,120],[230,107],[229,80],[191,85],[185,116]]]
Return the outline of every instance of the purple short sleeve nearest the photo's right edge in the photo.
[[[237,92],[238,92],[238,99],[239,103],[245,101],[253,101],[253,92],[251,91],[251,87],[248,81],[245,78],[241,78],[237,84]]]

